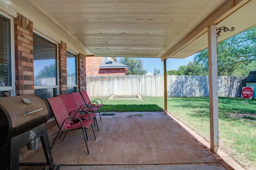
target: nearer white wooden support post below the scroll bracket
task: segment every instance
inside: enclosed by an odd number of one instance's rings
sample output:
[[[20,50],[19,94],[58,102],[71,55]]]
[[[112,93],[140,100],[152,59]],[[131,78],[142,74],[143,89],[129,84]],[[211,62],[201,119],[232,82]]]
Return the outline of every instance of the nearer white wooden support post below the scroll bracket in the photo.
[[[216,24],[208,26],[208,66],[210,96],[210,149],[212,152],[217,153],[219,148],[219,113]]]

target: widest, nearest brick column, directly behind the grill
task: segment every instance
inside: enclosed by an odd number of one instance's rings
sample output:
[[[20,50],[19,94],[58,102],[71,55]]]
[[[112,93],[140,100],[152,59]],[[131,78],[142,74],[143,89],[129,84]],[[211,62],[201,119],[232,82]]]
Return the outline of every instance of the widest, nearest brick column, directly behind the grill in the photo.
[[[14,18],[16,95],[34,94],[33,22]]]

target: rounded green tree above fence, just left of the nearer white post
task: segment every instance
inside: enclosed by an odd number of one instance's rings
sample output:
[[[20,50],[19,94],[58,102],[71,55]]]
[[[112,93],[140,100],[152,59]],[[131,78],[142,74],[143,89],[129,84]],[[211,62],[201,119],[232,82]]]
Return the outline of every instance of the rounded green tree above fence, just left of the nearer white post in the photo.
[[[202,64],[196,61],[190,61],[184,70],[185,75],[207,75],[208,71],[205,70]]]

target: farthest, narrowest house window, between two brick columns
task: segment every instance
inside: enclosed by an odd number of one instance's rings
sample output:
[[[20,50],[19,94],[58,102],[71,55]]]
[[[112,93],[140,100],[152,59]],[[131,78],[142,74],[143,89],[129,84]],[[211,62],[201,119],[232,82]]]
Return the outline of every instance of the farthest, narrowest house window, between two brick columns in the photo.
[[[77,91],[76,55],[67,51],[68,93]]]

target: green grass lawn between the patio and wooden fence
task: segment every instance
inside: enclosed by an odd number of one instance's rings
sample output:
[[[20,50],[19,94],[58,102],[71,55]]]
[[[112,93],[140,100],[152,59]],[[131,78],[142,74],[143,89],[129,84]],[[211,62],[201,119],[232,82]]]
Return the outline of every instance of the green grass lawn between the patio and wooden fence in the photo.
[[[163,111],[163,97],[142,101],[108,101],[106,112]],[[168,97],[168,111],[210,141],[209,98]],[[219,97],[220,149],[246,168],[256,168],[256,100]]]

